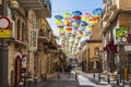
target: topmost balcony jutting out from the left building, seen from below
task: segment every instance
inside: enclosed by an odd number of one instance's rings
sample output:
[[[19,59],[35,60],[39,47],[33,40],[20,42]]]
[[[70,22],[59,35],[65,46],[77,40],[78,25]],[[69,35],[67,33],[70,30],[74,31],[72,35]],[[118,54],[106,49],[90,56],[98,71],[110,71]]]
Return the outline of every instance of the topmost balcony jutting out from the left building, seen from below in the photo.
[[[19,0],[27,10],[36,11],[39,17],[51,17],[50,0]]]

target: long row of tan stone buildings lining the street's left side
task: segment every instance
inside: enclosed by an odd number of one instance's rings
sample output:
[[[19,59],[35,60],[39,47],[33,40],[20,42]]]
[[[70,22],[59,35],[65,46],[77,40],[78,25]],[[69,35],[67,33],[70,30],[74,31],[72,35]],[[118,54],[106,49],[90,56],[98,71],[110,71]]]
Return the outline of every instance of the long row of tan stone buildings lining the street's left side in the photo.
[[[57,44],[46,21],[46,17],[51,16],[50,2],[20,0],[19,7],[13,9],[11,7],[13,0],[10,1],[10,4],[7,5],[7,16],[11,21],[12,36],[9,39],[8,78],[10,86],[17,87],[20,82],[25,82],[24,78],[33,82],[35,78],[41,80],[43,74],[53,73],[52,62],[55,58],[52,57]],[[7,3],[9,3],[8,0]],[[37,9],[34,8],[34,3]],[[2,0],[0,0],[0,12],[2,12]],[[32,41],[29,40],[31,29],[37,29],[38,32],[38,36],[34,38],[37,42],[37,49],[35,50],[29,49],[29,42]],[[39,38],[43,34],[44,37]]]

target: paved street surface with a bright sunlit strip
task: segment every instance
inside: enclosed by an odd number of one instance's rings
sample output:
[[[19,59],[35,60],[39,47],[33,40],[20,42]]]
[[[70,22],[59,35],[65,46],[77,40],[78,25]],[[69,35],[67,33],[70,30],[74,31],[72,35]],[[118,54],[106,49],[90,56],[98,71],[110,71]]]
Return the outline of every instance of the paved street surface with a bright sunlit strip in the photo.
[[[71,74],[62,73],[60,78],[55,76],[47,82],[38,83],[33,87],[123,87],[122,84],[119,86],[116,85],[116,82],[110,82],[110,85],[103,79],[100,82],[96,78],[93,78],[92,74],[86,74],[81,71],[78,72],[78,78],[75,78],[75,72]],[[126,84],[124,87],[129,87],[129,84]]]

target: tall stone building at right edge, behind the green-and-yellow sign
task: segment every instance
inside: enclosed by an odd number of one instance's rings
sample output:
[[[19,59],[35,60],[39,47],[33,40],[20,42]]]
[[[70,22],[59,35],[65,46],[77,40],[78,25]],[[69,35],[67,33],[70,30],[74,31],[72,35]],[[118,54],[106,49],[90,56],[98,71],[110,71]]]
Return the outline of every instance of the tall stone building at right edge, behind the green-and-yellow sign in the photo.
[[[124,69],[130,71],[130,16],[131,0],[104,0],[103,15],[103,39],[104,39],[104,70],[109,72],[122,72]],[[127,29],[127,34],[119,34],[116,30]]]

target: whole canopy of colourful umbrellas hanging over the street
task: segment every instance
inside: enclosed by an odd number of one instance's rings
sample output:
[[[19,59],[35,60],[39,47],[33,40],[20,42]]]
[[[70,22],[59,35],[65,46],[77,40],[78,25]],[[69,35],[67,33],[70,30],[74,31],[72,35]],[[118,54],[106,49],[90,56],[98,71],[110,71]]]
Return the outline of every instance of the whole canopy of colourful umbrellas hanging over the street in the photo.
[[[99,22],[103,10],[97,8],[92,13],[73,11],[72,13],[67,12],[62,15],[56,15],[55,20],[60,35],[61,49],[69,54],[75,53],[82,39],[90,39],[93,35],[92,25]]]

